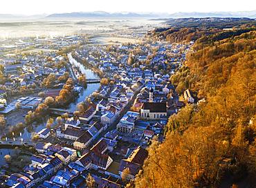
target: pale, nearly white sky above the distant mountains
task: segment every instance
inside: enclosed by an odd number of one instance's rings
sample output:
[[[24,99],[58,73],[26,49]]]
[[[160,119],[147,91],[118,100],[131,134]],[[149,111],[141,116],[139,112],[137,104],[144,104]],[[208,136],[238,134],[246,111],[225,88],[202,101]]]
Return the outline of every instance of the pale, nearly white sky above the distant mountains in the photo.
[[[1,0],[0,14],[62,12],[230,12],[256,10],[256,0]]]

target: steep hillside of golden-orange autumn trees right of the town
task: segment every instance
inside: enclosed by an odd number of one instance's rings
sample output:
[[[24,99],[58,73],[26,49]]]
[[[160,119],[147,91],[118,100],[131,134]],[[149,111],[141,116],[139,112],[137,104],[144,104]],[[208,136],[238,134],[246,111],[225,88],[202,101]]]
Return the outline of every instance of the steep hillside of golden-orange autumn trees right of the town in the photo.
[[[201,36],[171,82],[205,102],[170,117],[136,187],[256,187],[256,31]]]

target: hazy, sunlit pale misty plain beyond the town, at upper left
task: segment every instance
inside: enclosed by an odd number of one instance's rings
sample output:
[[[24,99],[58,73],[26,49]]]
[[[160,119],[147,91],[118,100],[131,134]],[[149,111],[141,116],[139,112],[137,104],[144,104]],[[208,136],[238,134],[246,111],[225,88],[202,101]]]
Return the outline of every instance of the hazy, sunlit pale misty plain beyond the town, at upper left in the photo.
[[[131,35],[136,30],[141,36],[161,21],[132,19],[35,19],[31,21],[0,22],[0,39],[17,37],[55,37],[72,34]],[[116,39],[115,39],[116,40]],[[120,39],[119,39],[120,40]],[[118,41],[119,41],[118,40]]]

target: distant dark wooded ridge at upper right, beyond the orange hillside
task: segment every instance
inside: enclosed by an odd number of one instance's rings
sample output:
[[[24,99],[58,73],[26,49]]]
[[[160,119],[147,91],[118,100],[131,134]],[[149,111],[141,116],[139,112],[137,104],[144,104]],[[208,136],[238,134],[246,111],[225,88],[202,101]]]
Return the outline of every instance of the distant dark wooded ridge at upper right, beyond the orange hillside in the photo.
[[[200,38],[211,42],[241,35],[241,33],[255,30],[256,26],[255,19],[248,18],[182,18],[170,19],[166,23],[169,27],[156,28],[149,31],[147,35],[153,39],[164,39],[171,43],[196,41]]]

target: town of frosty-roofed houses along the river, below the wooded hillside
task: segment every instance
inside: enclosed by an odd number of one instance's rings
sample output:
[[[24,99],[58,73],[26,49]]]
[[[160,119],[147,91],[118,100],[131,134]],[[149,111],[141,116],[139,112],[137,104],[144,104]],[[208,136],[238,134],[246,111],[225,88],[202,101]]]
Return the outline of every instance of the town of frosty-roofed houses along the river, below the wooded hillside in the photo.
[[[1,186],[122,187],[165,139],[170,115],[195,102],[170,82],[192,41],[89,40],[1,41],[1,145],[15,148],[1,152]]]

